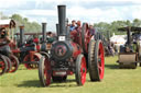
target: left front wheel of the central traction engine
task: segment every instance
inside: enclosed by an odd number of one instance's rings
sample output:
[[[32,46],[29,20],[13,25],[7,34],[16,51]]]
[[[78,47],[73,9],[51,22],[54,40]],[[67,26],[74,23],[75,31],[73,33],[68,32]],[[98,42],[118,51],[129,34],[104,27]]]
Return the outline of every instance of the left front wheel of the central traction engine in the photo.
[[[43,86],[48,86],[51,84],[51,62],[47,56],[43,56],[39,63],[39,78]]]

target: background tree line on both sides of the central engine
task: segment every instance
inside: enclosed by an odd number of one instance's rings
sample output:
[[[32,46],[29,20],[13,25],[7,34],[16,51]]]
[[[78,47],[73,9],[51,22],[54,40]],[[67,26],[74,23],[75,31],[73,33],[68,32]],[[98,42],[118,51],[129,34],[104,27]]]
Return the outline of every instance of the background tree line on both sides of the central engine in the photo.
[[[13,19],[18,26],[23,24],[24,31],[25,32],[40,32],[41,31],[41,25],[36,22],[30,22],[28,18],[23,18],[20,14],[12,14],[11,16],[7,16],[4,15],[2,12],[0,12],[0,19]],[[134,19],[133,21],[113,21],[111,23],[107,23],[107,22],[99,22],[99,23],[94,23],[94,27],[98,31],[98,32],[102,32],[102,33],[107,33],[107,31],[109,31],[111,34],[124,34],[122,32],[118,32],[119,27],[123,27],[123,26],[140,26],[141,27],[141,19]]]

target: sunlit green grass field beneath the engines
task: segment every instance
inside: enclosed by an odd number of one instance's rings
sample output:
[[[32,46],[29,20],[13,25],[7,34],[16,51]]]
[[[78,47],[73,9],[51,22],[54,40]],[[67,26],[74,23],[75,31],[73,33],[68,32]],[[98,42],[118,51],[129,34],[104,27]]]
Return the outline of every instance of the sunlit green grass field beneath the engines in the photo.
[[[107,57],[105,79],[90,82],[87,73],[84,86],[77,86],[75,75],[70,75],[65,83],[42,88],[37,70],[26,70],[20,66],[15,73],[0,77],[0,93],[141,93],[141,67],[119,69],[116,60],[117,57]]]

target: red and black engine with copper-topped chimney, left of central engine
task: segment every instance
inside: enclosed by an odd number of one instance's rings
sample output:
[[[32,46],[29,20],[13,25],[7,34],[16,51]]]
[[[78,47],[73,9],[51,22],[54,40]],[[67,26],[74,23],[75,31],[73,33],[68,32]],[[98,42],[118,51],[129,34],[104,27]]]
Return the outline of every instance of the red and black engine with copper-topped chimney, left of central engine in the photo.
[[[39,60],[42,57],[40,54],[39,38],[30,38],[25,40],[24,26],[20,26],[19,46],[12,49],[12,53],[19,58],[20,63],[24,63],[26,69],[37,69]]]

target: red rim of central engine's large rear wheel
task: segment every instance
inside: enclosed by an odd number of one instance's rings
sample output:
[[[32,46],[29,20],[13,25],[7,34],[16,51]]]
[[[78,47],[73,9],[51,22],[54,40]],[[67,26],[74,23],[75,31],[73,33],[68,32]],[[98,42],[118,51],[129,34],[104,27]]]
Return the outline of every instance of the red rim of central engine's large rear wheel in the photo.
[[[104,47],[102,44],[99,43],[99,50],[98,50],[98,70],[99,70],[99,78],[104,79],[104,70],[105,70],[105,59],[104,59]]]

